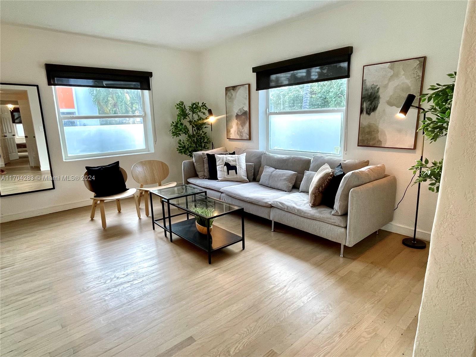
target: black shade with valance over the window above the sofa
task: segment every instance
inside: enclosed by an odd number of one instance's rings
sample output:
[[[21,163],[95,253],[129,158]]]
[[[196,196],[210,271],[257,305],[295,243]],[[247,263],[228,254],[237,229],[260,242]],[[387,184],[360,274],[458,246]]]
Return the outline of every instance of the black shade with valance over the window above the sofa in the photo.
[[[352,46],[253,67],[256,90],[350,77]]]

